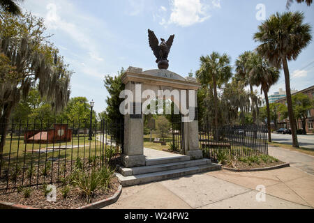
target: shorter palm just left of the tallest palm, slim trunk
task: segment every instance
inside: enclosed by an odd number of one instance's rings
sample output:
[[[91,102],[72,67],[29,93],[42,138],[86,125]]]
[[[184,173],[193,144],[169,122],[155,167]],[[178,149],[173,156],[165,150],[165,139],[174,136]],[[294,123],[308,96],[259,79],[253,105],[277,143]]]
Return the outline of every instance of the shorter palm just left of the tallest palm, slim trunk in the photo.
[[[261,93],[264,93],[267,106],[267,128],[268,140],[271,142],[271,115],[269,109],[268,93],[272,85],[276,84],[279,79],[280,72],[277,68],[269,66],[266,59],[263,59],[259,54],[252,54],[249,64],[249,75],[255,86],[261,86]]]

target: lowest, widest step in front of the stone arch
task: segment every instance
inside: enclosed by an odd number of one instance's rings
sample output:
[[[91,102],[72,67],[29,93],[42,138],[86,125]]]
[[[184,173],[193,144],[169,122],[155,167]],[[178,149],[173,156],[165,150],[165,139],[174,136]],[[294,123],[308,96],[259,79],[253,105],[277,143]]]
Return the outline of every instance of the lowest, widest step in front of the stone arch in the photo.
[[[133,185],[140,185],[143,183],[150,183],[159,180],[167,180],[170,178],[197,174],[203,171],[215,171],[218,169],[220,169],[220,166],[218,164],[206,164],[197,167],[173,169],[168,171],[160,171],[150,174],[139,174],[134,176],[122,176],[122,174],[117,173],[116,176],[119,178],[119,182],[123,187],[128,187]]]

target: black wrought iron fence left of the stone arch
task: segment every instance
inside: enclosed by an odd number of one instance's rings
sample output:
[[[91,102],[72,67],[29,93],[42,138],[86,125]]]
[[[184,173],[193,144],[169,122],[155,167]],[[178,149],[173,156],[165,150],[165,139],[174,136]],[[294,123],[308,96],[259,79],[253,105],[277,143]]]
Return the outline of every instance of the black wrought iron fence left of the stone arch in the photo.
[[[10,121],[0,148],[0,192],[60,183],[80,166],[103,166],[123,152],[124,122]],[[4,124],[0,124],[4,128]],[[2,135],[0,135],[2,137]]]

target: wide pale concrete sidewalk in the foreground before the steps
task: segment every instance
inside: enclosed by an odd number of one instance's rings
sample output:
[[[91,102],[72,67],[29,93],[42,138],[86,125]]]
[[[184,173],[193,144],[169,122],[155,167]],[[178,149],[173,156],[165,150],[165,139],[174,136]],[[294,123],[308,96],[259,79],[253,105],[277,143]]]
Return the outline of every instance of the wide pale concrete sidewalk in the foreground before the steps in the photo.
[[[266,188],[258,202],[257,185]],[[235,173],[214,171],[157,183],[125,187],[117,203],[106,208],[313,208],[314,176],[288,167]]]

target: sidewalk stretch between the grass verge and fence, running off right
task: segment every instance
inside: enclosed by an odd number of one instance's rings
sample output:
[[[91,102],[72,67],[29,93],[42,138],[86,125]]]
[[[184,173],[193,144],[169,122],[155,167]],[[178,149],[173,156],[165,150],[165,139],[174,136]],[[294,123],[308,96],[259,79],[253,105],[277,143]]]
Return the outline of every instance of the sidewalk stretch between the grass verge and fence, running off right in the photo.
[[[290,163],[291,167],[296,167],[308,174],[314,175],[314,157],[311,155],[274,146],[269,146],[269,155],[283,162]]]

